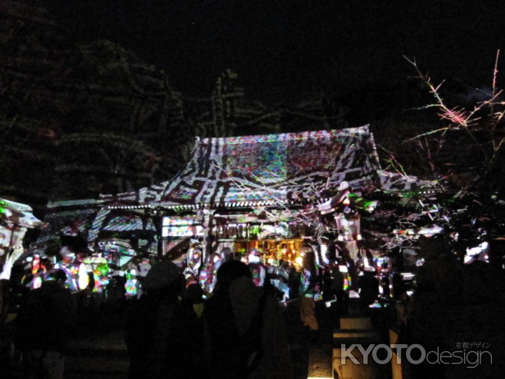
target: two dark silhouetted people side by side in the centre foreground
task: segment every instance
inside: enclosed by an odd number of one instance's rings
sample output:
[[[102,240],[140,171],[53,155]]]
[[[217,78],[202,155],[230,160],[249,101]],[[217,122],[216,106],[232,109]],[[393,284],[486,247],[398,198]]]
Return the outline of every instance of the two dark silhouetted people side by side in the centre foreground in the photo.
[[[170,261],[153,266],[143,288],[126,317],[130,377],[292,377],[277,299],[245,263],[222,262],[205,304]]]

